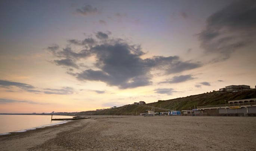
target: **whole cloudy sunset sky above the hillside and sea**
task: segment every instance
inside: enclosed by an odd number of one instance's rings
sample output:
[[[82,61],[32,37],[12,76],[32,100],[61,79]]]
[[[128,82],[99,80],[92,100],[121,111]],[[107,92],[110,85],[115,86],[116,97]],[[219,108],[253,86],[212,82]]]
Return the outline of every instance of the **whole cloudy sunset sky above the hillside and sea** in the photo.
[[[1,0],[0,113],[255,88],[255,14],[255,0]]]

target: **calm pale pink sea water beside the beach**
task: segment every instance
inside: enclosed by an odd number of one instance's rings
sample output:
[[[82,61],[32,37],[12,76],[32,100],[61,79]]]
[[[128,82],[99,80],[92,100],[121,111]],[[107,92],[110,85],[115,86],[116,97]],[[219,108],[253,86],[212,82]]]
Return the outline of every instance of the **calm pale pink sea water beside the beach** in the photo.
[[[52,118],[72,118],[72,116],[53,115]],[[9,132],[25,132],[66,122],[68,121],[51,121],[51,115],[0,115],[0,135]]]

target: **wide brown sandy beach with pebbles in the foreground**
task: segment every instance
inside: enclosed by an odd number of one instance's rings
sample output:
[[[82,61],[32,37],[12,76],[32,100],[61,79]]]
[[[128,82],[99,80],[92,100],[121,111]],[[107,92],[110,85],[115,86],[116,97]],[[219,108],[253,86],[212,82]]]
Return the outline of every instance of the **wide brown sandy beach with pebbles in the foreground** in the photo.
[[[255,117],[92,116],[0,136],[0,150],[256,150]]]

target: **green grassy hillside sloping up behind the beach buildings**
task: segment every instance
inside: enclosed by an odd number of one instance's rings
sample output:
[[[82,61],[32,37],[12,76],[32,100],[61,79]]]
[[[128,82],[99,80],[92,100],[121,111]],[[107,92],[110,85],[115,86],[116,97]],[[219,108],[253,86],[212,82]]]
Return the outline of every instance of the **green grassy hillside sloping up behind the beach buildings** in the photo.
[[[164,109],[190,110],[194,106],[220,105],[228,103],[229,100],[240,100],[256,98],[256,89],[243,90],[238,92],[219,93],[213,91],[210,93],[197,94],[187,97],[180,97],[170,100],[158,100],[158,102],[148,103],[146,105],[124,105],[114,109],[105,109],[99,111],[86,111],[77,113],[78,115],[139,115],[145,113],[145,110],[151,109],[151,106],[162,109],[155,109],[156,112]],[[146,100],[144,100],[146,102]]]

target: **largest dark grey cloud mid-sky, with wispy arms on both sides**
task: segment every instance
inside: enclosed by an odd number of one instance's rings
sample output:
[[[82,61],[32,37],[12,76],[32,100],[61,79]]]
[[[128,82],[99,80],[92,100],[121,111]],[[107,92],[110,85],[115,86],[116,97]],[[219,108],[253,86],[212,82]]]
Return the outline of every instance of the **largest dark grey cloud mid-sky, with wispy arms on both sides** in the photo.
[[[80,81],[101,81],[108,86],[117,86],[120,89],[151,85],[153,70],[173,74],[202,66],[201,62],[182,61],[178,56],[154,56],[142,59],[141,56],[145,52],[140,45],[131,45],[123,39],[110,39],[107,36],[104,37],[104,34],[108,35],[110,32],[97,32],[96,36],[101,38],[87,49],[75,51],[67,47],[56,51],[55,56],[65,60],[65,64],[58,62],[58,65],[76,67],[74,64],[77,64],[78,60],[80,62],[77,65],[80,65],[81,61],[86,62],[88,57],[93,56],[95,58],[93,67],[84,66],[86,69],[81,72],[68,71],[67,73]],[[75,41],[73,41],[74,44],[80,42]]]

